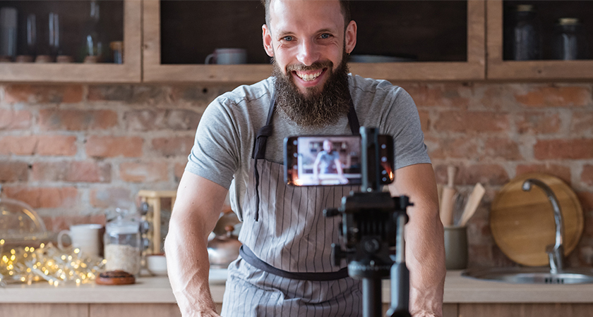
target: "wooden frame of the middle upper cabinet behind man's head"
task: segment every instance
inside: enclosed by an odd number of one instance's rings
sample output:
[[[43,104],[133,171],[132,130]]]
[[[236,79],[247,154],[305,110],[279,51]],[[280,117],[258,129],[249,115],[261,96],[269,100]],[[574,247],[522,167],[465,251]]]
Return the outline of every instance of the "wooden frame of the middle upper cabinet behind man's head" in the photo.
[[[270,76],[272,67],[250,65],[162,65],[160,63],[160,1],[143,5],[144,82],[253,83]],[[485,78],[486,4],[467,1],[467,61],[412,63],[349,63],[350,71],[385,80],[483,80]]]

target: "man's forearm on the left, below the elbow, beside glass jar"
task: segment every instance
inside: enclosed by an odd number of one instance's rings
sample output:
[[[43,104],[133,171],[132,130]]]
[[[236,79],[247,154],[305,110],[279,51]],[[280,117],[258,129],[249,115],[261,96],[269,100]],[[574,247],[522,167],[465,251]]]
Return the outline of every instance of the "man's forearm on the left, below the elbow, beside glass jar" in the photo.
[[[207,240],[188,222],[172,218],[169,226],[164,243],[169,281],[182,316],[208,316],[215,313],[215,304],[208,286]]]

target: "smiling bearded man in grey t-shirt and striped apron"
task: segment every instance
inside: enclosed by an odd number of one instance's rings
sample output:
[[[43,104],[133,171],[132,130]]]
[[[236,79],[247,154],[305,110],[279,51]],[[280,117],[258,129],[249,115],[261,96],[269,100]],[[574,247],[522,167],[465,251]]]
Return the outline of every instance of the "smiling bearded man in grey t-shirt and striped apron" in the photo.
[[[196,132],[165,242],[183,316],[218,316],[208,287],[208,234],[230,189],[243,221],[222,316],[361,316],[361,283],[333,266],[340,206],[353,187],[287,187],[289,135],[352,135],[378,127],[395,140],[393,195],[407,195],[406,257],[413,316],[441,316],[445,277],[436,184],[414,101],[402,88],[348,73],[357,25],[346,1],[263,0],[271,77],[212,101]]]

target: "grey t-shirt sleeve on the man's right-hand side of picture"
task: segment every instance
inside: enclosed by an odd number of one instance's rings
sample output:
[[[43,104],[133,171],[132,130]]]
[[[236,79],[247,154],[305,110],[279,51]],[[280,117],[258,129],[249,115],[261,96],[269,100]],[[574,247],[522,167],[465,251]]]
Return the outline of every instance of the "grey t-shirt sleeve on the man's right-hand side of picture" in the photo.
[[[414,100],[401,87],[395,87],[392,96],[393,102],[386,116],[386,129],[394,138],[395,169],[431,163]]]

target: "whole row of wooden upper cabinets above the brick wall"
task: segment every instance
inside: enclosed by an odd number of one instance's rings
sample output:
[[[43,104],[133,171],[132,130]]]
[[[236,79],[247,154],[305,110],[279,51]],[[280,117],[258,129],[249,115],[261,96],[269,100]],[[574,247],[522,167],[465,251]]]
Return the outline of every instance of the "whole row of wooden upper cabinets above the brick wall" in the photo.
[[[0,0],[0,7],[31,6],[33,2]],[[71,3],[37,2],[42,6]],[[72,10],[86,2],[76,1]],[[124,64],[0,63],[0,82],[252,83],[271,73],[270,58],[261,43],[264,13],[259,0],[105,2],[121,6],[121,12],[104,15],[119,17],[115,24],[122,25]],[[352,18],[358,23],[358,42],[352,56],[395,56],[404,61],[351,62],[350,70],[364,77],[396,82],[592,79],[593,59],[508,61],[503,58],[505,8],[517,3],[510,0],[352,1]],[[593,3],[561,0],[521,3],[539,8],[541,22],[547,25],[542,28],[545,36],[557,18],[568,15],[581,18],[593,51],[593,19],[590,18]],[[21,20],[24,16],[19,13]],[[82,20],[78,13],[74,16],[77,18],[73,20]],[[22,27],[22,22],[19,25]],[[205,65],[205,56],[221,47],[246,49],[247,63]],[[549,45],[544,43],[544,47]]]

